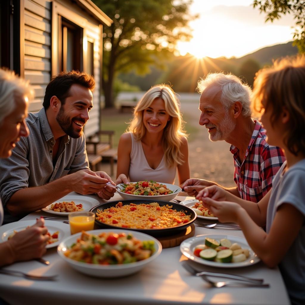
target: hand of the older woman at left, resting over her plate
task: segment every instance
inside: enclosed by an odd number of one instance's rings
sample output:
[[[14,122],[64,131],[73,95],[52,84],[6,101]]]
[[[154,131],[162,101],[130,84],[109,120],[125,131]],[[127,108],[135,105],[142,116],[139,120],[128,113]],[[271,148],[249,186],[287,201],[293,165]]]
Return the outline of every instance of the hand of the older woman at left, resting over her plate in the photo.
[[[17,232],[7,241],[12,253],[12,262],[42,257],[50,239],[47,232],[43,218],[38,219],[30,228]]]

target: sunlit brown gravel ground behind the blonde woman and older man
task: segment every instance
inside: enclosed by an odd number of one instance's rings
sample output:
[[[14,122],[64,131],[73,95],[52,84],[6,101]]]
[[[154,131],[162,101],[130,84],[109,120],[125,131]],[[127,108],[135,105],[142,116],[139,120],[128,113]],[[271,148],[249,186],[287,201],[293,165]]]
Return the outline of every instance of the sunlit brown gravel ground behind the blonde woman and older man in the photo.
[[[193,118],[187,124],[193,124],[199,128],[196,139],[189,142],[189,161],[192,178],[202,178],[216,181],[230,187],[235,186],[233,181],[234,165],[233,155],[229,151],[230,145],[225,141],[211,142],[208,131],[199,125],[199,94],[181,94],[181,111]],[[104,109],[108,115],[117,116],[116,109]],[[110,173],[109,163],[102,163],[100,170]],[[116,173],[116,166],[115,166]],[[112,177],[115,179],[115,177]],[[178,184],[176,178],[175,184]]]

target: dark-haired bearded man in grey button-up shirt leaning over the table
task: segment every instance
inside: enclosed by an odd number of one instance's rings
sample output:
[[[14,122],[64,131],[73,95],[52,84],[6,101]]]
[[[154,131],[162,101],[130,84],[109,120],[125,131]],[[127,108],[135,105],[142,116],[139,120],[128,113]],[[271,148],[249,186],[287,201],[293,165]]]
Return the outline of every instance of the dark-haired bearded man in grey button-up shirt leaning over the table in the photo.
[[[110,199],[115,188],[105,172],[89,170],[83,128],[93,107],[91,75],[60,73],[47,85],[43,108],[29,113],[30,131],[12,156],[0,160],[4,223],[16,221],[75,191]],[[16,122],[20,124],[20,122]],[[4,131],[3,131],[4,132]]]

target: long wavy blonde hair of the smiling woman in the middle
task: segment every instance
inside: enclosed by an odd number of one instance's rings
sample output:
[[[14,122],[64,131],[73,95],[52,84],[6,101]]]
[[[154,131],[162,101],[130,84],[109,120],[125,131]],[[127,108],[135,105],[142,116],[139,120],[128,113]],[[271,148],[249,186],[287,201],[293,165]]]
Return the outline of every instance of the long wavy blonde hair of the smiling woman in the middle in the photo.
[[[163,99],[165,110],[171,117],[163,130],[162,146],[165,162],[167,166],[172,167],[184,163],[180,148],[182,138],[187,135],[179,109],[180,102],[170,86],[165,84],[155,85],[144,94],[135,107],[133,120],[130,122],[126,132],[133,133],[136,140],[141,140],[144,137],[146,128],[143,123],[143,111],[157,98]]]

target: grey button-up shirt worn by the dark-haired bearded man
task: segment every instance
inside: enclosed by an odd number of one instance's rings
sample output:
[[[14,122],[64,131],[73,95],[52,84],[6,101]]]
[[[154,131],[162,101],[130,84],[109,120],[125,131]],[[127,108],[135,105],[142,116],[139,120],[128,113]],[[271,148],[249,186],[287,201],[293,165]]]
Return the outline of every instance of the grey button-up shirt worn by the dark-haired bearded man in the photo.
[[[30,135],[20,138],[12,150],[12,156],[0,159],[0,196],[4,208],[11,196],[21,188],[45,185],[67,174],[89,168],[84,135],[77,139],[63,136],[53,166],[55,139],[45,109],[29,113],[26,122]],[[23,217],[13,217],[4,210],[4,223]]]

